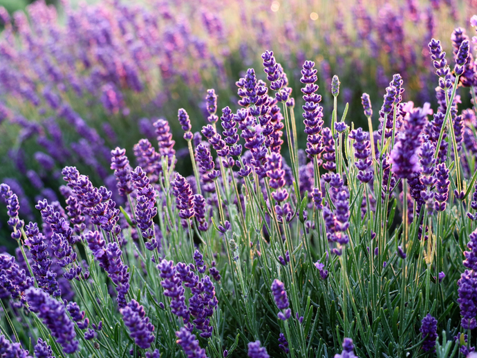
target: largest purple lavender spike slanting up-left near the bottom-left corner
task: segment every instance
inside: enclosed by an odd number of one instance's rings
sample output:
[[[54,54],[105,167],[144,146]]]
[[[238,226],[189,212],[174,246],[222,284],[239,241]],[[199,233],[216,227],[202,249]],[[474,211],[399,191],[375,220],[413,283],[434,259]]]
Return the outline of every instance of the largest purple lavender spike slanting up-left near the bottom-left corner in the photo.
[[[68,318],[63,303],[37,288],[29,288],[26,291],[26,299],[30,310],[37,313],[64,352],[68,354],[76,352],[79,342],[75,339],[75,325]]]

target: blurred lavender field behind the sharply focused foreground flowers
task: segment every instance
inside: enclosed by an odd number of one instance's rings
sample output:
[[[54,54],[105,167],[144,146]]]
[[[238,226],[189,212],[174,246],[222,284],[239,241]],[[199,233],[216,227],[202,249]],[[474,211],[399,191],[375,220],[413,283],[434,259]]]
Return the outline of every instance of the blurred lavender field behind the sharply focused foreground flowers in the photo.
[[[435,106],[438,82],[427,44],[440,39],[453,68],[451,35],[458,27],[458,37],[476,35],[469,19],[477,12],[477,0],[0,0],[0,5],[0,182],[19,195],[27,222],[39,217],[39,198],[63,202],[60,172],[66,165],[115,192],[111,149],[126,148],[135,167],[133,145],[141,138],[156,145],[152,123],[160,117],[169,121],[176,140],[177,170],[188,175],[178,109],[186,109],[193,131],[200,131],[206,124],[206,91],[214,88],[218,115],[225,106],[236,111],[235,82],[247,68],[265,80],[260,57],[265,50],[274,51],[288,75],[299,133],[299,79],[306,59],[318,70],[327,125],[333,75],[342,83],[339,113],[348,103],[347,120],[355,126],[365,124],[363,92],[371,95],[377,121],[394,73],[404,79],[404,101]],[[468,88],[459,94],[466,108]],[[6,220],[2,205],[0,223]],[[8,230],[6,224],[0,229],[0,245],[15,244]]]

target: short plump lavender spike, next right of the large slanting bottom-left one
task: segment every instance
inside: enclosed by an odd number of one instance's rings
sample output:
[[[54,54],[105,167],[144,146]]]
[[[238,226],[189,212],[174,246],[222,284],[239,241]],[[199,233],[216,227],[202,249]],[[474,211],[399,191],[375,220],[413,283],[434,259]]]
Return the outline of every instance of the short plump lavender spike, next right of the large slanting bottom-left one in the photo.
[[[154,326],[149,323],[149,317],[144,312],[144,307],[137,301],[131,300],[126,307],[120,310],[124,319],[124,326],[129,328],[129,335],[140,348],[147,349],[154,341]]]

